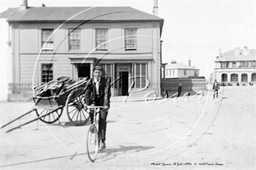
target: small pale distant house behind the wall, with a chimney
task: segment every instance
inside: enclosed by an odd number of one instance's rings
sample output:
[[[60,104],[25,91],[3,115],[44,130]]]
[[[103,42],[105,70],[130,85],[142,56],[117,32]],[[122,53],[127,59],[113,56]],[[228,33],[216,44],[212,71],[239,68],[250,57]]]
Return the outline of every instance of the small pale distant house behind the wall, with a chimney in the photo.
[[[196,66],[191,66],[191,60],[189,58],[188,65],[177,63],[175,60],[173,60],[169,65],[165,65],[164,75],[165,78],[186,78],[189,76],[199,77],[200,72]]]

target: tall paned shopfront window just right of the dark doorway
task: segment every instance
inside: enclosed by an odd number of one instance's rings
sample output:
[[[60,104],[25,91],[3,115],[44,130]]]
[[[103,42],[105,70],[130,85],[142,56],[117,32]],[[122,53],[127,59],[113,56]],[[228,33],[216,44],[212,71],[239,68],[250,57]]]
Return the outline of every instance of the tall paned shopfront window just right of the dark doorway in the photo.
[[[145,88],[146,79],[148,76],[148,65],[146,63],[132,64],[132,77],[134,81],[134,88]]]

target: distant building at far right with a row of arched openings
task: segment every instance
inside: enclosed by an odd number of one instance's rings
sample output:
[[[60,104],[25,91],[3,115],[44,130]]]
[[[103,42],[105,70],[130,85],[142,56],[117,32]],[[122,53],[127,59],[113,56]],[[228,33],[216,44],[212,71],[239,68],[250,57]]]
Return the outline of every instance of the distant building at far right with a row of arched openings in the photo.
[[[256,83],[256,57],[255,49],[239,47],[229,50],[216,57],[215,68],[212,75],[218,82],[231,82],[232,84]]]

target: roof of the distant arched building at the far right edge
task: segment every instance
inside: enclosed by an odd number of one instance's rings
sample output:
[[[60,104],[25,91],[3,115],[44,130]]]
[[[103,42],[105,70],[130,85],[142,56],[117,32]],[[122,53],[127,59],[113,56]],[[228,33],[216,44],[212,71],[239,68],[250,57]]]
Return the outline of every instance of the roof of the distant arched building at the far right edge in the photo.
[[[234,52],[235,50],[229,50],[227,52],[224,52],[223,54],[221,54],[221,58],[216,58],[215,62],[218,61],[255,61],[256,60],[256,56],[255,56],[255,49],[250,49],[250,53],[248,55],[244,55],[243,54],[243,49],[240,50],[240,54],[239,56],[235,56]]]

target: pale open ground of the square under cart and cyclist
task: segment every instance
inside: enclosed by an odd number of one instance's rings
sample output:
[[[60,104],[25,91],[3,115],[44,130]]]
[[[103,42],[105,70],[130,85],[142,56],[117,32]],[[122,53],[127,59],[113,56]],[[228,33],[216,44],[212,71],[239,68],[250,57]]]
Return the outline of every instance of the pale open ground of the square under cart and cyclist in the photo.
[[[64,110],[62,125],[35,121],[5,133],[17,121],[1,129],[0,169],[255,169],[255,91],[255,86],[221,87],[218,99],[204,91],[187,102],[116,98],[107,148],[93,163],[85,145],[89,123],[72,125]],[[33,105],[1,103],[1,125]],[[33,118],[35,113],[20,123]]]

